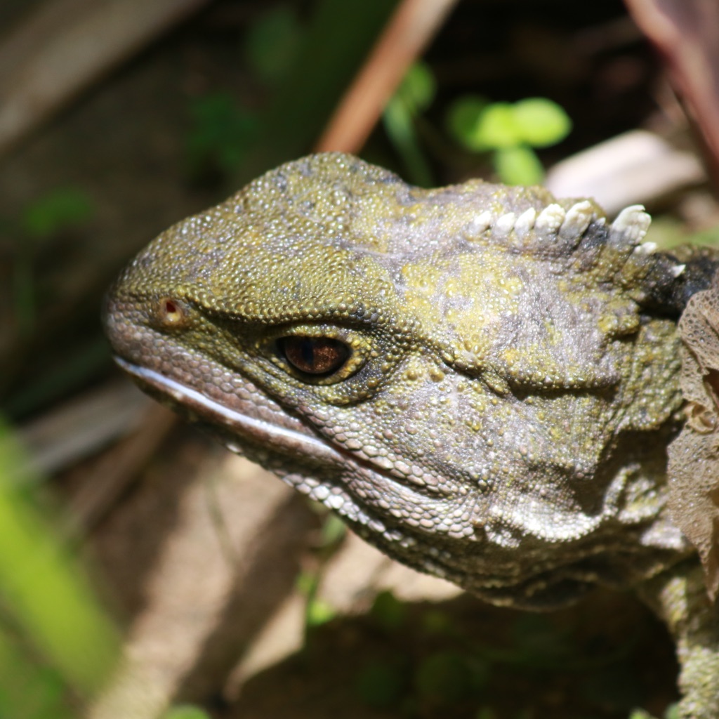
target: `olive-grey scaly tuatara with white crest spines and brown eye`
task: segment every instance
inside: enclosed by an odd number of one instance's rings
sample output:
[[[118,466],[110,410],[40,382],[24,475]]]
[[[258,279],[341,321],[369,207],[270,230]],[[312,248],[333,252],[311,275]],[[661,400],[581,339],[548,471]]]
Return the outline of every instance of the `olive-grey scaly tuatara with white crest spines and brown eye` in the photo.
[[[530,610],[636,588],[680,716],[716,719],[718,260],[649,222],[313,155],[157,237],[104,324],[142,388],[400,562]]]

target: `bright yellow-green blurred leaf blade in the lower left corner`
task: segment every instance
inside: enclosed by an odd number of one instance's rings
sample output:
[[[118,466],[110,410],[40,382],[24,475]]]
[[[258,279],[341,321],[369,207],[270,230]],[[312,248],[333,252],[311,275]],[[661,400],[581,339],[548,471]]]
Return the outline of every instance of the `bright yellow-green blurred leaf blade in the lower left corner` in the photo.
[[[35,485],[0,425],[0,716],[69,718],[68,698],[91,697],[109,677],[119,638]]]

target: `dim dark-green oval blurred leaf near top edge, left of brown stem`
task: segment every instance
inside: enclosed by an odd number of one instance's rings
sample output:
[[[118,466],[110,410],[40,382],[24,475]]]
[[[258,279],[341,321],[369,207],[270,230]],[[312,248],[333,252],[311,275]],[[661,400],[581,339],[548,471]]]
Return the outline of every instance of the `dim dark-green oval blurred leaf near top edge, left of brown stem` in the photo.
[[[295,9],[278,5],[249,27],[244,46],[247,63],[262,81],[275,84],[296,62],[302,38]]]

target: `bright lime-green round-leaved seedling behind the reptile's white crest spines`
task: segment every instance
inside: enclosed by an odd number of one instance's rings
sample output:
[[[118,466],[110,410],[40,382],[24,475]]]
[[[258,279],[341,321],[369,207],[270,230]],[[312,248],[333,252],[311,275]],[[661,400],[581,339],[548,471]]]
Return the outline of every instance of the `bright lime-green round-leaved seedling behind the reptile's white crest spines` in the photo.
[[[510,104],[464,96],[449,109],[449,134],[472,152],[490,152],[500,180],[534,185],[544,168],[533,147],[561,142],[572,129],[567,113],[551,100],[529,98]]]

